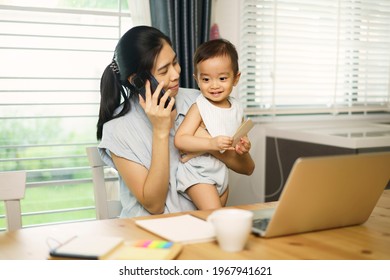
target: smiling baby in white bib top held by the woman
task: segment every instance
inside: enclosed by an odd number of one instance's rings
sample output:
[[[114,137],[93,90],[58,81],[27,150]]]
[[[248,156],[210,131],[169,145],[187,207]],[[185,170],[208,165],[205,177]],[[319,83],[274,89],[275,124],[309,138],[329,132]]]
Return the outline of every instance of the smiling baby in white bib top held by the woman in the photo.
[[[230,96],[241,74],[235,47],[224,39],[203,43],[195,52],[194,68],[202,94],[179,126],[175,145],[190,153],[235,150],[232,136],[243,120],[240,103]],[[211,138],[195,136],[199,127],[205,128]],[[179,163],[177,180],[178,192],[191,199],[198,209],[225,206],[228,168],[212,155],[206,153]]]

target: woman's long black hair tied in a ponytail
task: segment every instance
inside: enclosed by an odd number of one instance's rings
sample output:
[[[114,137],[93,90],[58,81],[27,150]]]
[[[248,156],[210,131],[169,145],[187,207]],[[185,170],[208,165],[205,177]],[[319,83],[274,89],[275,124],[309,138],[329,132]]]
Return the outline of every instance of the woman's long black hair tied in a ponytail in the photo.
[[[150,26],[136,26],[127,31],[119,40],[112,62],[106,67],[100,80],[100,109],[97,123],[97,139],[103,136],[103,125],[125,115],[130,110],[130,96],[135,89],[128,78],[135,73],[150,71],[163,44],[172,45],[168,36]],[[123,108],[114,115],[121,104]]]

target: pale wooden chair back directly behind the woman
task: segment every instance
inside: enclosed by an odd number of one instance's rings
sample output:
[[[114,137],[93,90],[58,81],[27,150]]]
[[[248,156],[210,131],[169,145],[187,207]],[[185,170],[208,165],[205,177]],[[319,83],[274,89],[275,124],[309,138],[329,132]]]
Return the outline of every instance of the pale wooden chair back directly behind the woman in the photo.
[[[89,165],[92,168],[92,181],[95,195],[96,218],[111,219],[117,218],[122,210],[119,199],[119,183],[117,173],[112,168],[105,168],[106,164],[100,158],[97,147],[86,148]],[[105,172],[105,169],[108,172]],[[106,174],[111,178],[106,179]]]

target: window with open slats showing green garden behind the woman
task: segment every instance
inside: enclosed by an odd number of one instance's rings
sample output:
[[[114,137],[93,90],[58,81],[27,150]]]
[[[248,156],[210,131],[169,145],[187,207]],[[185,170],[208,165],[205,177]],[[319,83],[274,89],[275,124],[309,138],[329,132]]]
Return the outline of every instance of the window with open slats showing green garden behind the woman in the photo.
[[[27,170],[23,225],[95,217],[85,147],[127,1],[2,1],[0,171]],[[0,206],[0,228],[2,228]]]

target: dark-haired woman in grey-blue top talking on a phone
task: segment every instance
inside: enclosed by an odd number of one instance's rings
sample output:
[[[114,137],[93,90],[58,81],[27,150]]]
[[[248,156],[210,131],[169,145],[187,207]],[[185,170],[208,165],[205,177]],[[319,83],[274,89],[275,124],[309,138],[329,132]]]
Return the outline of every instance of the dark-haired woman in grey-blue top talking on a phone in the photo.
[[[159,82],[153,93],[146,82],[145,99],[134,84],[136,74],[144,72]],[[103,161],[119,173],[121,217],[195,209],[176,191],[180,155],[173,139],[199,91],[179,89],[179,76],[170,39],[148,26],[134,27],[122,36],[102,75],[97,138]],[[170,97],[166,108],[158,105],[162,89],[165,94],[160,103]],[[243,140],[236,151],[216,156],[236,172],[251,174],[254,163],[249,149],[250,143]]]

